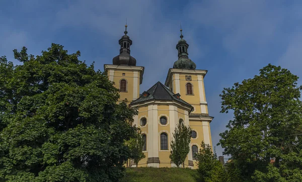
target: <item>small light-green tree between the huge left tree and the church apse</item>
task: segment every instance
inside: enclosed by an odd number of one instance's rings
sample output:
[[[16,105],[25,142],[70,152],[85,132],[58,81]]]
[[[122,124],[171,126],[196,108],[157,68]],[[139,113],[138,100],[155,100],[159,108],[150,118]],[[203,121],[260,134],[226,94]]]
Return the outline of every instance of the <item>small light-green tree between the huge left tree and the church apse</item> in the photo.
[[[144,141],[142,140],[141,133],[138,131],[135,133],[134,137],[125,141],[125,143],[130,150],[129,159],[132,159],[137,167],[138,162],[145,157],[144,153],[142,152]]]

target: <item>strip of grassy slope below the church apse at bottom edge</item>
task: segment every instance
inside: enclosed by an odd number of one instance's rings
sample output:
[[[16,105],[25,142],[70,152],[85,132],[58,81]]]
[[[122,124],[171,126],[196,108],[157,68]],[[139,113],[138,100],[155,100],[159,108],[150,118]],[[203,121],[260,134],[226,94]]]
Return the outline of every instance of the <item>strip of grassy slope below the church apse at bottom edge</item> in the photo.
[[[126,168],[122,182],[149,182],[149,181],[200,181],[197,170],[189,168],[155,168],[130,167]]]

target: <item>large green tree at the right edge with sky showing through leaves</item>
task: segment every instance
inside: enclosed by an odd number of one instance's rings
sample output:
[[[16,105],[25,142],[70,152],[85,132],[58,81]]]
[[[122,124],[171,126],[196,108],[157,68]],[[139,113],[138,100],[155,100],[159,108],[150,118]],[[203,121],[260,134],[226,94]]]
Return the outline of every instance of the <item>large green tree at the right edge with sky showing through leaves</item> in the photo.
[[[220,133],[246,181],[302,181],[302,87],[298,77],[268,66],[252,79],[224,88],[221,112],[234,119]]]

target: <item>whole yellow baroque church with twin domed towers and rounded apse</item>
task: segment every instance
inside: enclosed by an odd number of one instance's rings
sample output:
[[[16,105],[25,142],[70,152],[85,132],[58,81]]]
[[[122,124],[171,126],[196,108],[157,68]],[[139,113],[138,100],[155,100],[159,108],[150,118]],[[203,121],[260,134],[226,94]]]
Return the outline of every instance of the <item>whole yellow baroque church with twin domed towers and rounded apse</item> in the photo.
[[[208,114],[203,82],[207,70],[197,70],[189,59],[189,45],[183,39],[182,29],[180,31],[176,45],[178,60],[168,70],[164,84],[157,82],[140,94],[144,67],[136,66],[136,59],[130,55],[132,41],[127,35],[127,25],[125,35],[119,40],[120,54],[113,58],[112,64],[104,65],[109,80],[120,90],[120,101],[127,99],[129,107],[138,108],[133,124],[141,130],[145,154],[139,167],[176,166],[169,155],[173,133],[180,122],[192,128],[185,167],[197,168],[194,154],[202,141],[212,146],[210,122],[213,117]]]

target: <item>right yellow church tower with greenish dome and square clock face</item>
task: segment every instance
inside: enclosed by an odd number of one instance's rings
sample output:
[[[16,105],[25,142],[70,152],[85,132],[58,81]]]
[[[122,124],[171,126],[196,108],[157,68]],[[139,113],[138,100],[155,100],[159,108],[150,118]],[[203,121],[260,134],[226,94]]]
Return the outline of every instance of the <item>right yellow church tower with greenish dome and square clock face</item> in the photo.
[[[194,156],[192,155],[198,152],[202,141],[212,146],[209,124],[213,117],[208,114],[205,99],[203,80],[207,70],[196,70],[196,64],[188,57],[189,45],[183,39],[182,29],[180,29],[180,32],[181,39],[176,45],[178,60],[174,63],[173,68],[169,69],[165,85],[172,92],[179,93],[181,99],[191,104],[194,108],[189,114],[189,125],[193,130],[189,159],[193,158],[194,161]]]

